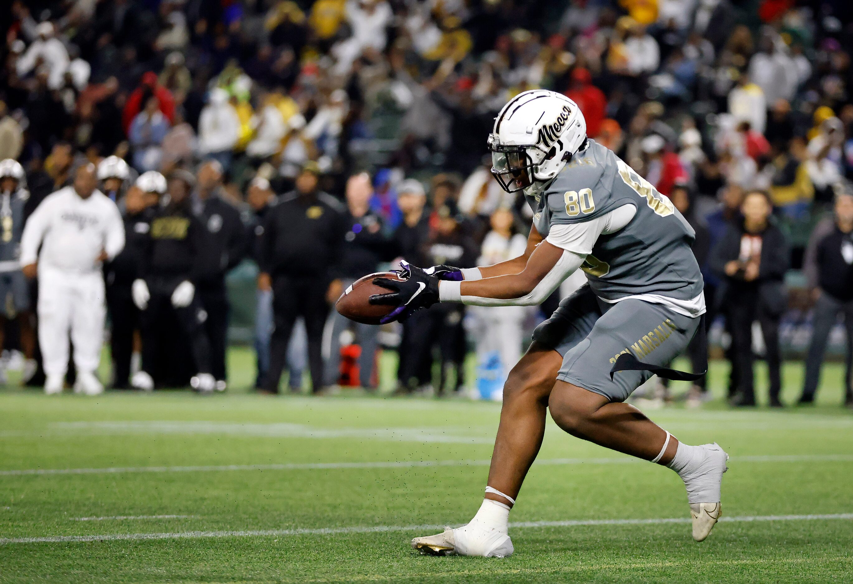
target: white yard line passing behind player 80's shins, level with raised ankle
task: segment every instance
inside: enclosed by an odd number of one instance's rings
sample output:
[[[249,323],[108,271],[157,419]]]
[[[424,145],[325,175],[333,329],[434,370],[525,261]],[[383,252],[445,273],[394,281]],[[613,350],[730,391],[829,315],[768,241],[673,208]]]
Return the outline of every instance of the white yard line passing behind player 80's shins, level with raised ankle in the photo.
[[[732,456],[736,462],[853,462],[853,455],[745,455]],[[637,464],[644,461],[629,457],[546,458],[537,465]],[[50,474],[111,474],[116,472],[223,472],[223,471],[299,471],[345,468],[417,468],[488,467],[489,459],[470,461],[365,461],[365,462],[288,462],[281,464],[232,464],[198,467],[105,467],[105,468],[18,468],[0,471],[0,477]]]

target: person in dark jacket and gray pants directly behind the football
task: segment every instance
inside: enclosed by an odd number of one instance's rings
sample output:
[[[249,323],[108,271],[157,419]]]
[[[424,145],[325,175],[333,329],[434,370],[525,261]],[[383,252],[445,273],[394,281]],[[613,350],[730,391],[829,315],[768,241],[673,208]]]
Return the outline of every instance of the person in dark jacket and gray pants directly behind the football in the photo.
[[[369,202],[373,189],[367,173],[351,176],[346,181],[345,225],[347,227],[343,255],[335,274],[340,280],[341,291],[362,276],[378,270],[379,262],[387,257],[389,242],[384,234],[382,218],[370,210]],[[334,291],[333,291],[334,292]],[[329,295],[329,303],[336,301]],[[331,340],[326,361],[326,385],[338,384],[340,376],[340,335],[346,329],[354,329],[355,340],[361,348],[358,358],[359,383],[365,389],[374,390],[376,348],[379,327],[371,324],[351,323],[347,318],[333,312],[331,318]]]

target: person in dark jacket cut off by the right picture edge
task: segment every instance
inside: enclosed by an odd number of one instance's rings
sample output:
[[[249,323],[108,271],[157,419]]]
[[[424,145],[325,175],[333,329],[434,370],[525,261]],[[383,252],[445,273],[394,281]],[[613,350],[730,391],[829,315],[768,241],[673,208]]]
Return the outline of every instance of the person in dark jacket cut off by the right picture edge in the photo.
[[[815,401],[827,339],[838,322],[838,315],[843,314],[847,336],[844,405],[850,408],[853,407],[853,188],[849,182],[842,182],[834,191],[834,226],[828,233],[815,230],[803,266],[815,309],[799,403]]]

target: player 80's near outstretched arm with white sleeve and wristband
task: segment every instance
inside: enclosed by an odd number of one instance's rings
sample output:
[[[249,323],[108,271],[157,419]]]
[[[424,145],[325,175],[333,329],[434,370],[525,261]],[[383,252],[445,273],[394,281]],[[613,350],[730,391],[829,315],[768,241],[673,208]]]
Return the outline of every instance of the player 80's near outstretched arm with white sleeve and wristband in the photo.
[[[584,255],[543,241],[534,247],[520,272],[468,282],[441,282],[439,298],[478,306],[541,304],[584,259]]]

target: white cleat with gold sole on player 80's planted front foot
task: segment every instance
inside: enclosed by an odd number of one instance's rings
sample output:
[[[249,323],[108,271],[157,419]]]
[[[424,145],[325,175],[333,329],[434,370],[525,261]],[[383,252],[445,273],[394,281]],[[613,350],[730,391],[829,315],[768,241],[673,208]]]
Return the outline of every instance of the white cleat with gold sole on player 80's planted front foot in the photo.
[[[479,558],[506,558],[515,551],[509,535],[479,523],[462,525],[443,533],[415,537],[412,547],[421,553],[437,556],[477,556]]]

